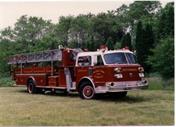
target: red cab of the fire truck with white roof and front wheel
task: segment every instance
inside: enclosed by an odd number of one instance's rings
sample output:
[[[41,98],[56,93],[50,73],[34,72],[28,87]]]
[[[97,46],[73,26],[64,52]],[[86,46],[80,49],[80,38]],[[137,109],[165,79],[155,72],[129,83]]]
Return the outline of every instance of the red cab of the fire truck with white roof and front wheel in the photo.
[[[108,92],[126,96],[129,90],[148,87],[143,67],[129,50],[81,52],[77,55],[75,72],[77,89],[86,99]]]

